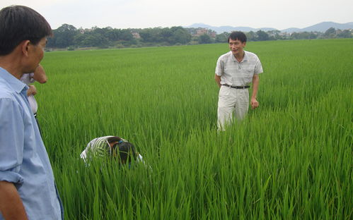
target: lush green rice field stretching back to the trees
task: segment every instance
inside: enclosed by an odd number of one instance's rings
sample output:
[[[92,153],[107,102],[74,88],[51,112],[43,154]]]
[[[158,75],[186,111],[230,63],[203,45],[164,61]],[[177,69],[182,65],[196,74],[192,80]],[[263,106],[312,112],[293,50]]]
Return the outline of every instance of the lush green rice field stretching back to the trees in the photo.
[[[227,44],[47,52],[38,120],[65,219],[352,219],[352,44],[248,42],[260,107],[223,133]],[[79,154],[104,135],[146,166],[86,167]]]

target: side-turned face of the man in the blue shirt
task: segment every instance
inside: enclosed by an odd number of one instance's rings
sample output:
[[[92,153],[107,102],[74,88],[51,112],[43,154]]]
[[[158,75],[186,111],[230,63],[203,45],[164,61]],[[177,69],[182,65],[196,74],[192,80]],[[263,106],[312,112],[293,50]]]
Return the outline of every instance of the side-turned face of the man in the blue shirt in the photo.
[[[28,44],[28,73],[33,73],[35,68],[42,61],[44,56],[44,49],[47,45],[47,37],[40,39],[38,44]]]

